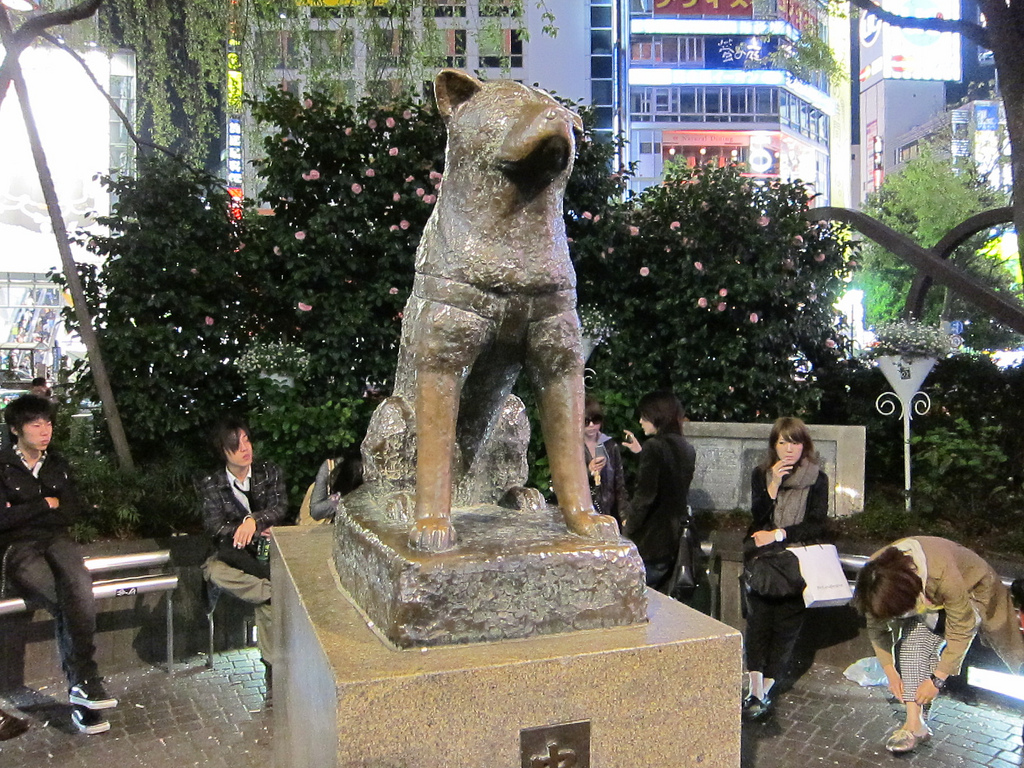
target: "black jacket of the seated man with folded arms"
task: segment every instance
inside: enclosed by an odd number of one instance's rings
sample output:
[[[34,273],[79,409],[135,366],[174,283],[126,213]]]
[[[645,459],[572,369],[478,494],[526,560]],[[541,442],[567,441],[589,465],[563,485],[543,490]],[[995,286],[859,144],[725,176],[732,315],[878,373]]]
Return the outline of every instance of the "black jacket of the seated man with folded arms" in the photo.
[[[50,509],[48,496],[59,499],[60,506]],[[12,447],[0,451],[0,550],[13,542],[67,534],[79,510],[71,467],[62,456],[47,451],[37,478]]]

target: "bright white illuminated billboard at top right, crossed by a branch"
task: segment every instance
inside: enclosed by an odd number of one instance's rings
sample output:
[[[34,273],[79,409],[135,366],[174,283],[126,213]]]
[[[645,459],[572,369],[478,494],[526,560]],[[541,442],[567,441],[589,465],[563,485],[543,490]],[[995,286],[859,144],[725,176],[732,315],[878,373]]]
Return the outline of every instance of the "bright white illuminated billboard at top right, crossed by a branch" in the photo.
[[[959,18],[958,0],[886,0],[883,7],[911,18]],[[959,80],[961,37],[894,27],[871,13],[860,16],[860,81]]]

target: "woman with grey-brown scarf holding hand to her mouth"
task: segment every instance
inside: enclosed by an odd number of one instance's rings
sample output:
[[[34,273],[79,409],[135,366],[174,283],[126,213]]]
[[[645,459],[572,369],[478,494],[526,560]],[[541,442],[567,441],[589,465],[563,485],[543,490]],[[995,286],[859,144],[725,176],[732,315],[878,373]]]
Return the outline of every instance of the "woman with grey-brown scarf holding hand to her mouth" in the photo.
[[[751,477],[754,521],[743,542],[748,557],[764,547],[807,544],[827,534],[828,476],[807,425],[786,417],[772,426],[768,454]],[[750,688],[743,718],[761,720],[772,709],[771,689],[786,672],[804,624],[800,592],[768,597],[746,595],[746,670]]]

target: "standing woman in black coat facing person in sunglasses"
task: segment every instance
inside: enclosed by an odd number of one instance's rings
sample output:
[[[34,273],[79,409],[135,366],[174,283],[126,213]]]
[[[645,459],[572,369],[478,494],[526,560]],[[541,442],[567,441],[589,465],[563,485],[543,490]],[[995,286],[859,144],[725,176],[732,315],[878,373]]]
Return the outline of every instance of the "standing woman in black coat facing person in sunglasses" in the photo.
[[[647,586],[664,591],[676,563],[683,527],[689,522],[686,500],[696,452],[683,437],[683,408],[674,394],[644,395],[639,410],[640,427],[649,439],[640,449],[627,432],[625,444],[634,453],[640,452],[640,468],[624,532],[640,551]]]

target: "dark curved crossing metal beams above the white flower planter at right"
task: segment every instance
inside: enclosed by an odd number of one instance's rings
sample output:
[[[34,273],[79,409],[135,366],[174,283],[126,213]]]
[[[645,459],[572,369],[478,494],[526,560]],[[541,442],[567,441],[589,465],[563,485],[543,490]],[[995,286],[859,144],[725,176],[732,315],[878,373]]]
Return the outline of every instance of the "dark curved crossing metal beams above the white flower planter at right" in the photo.
[[[949,263],[949,254],[972,234],[989,226],[1013,220],[1012,209],[996,208],[972,216],[954,226],[931,249],[922,248],[905,234],[883,224],[876,218],[849,208],[812,208],[804,212],[812,221],[834,220],[849,224],[866,238],[901,258],[918,270],[907,296],[907,310],[911,316],[920,314],[925,294],[932,283],[955,291],[979,309],[988,312],[1017,333],[1024,333],[1024,304],[988,288],[981,281]]]

